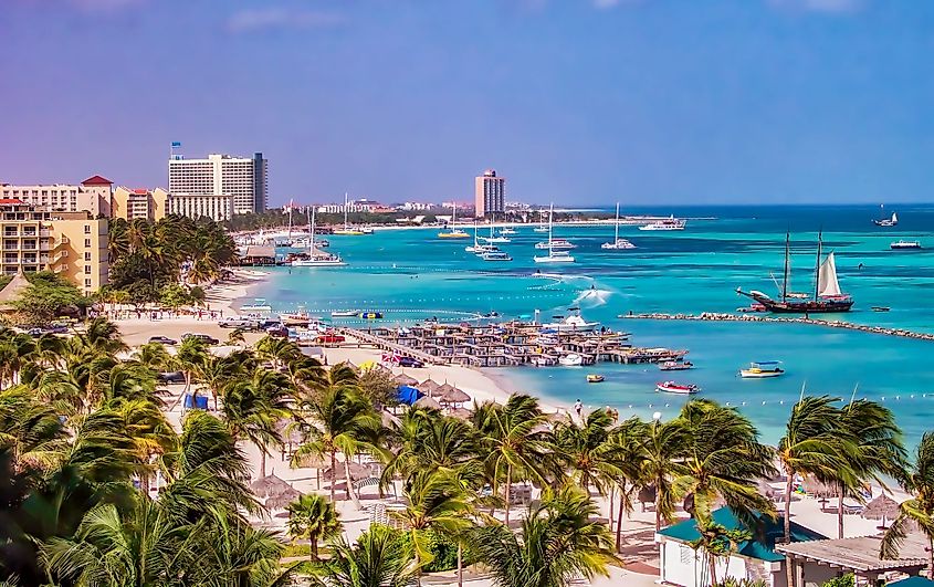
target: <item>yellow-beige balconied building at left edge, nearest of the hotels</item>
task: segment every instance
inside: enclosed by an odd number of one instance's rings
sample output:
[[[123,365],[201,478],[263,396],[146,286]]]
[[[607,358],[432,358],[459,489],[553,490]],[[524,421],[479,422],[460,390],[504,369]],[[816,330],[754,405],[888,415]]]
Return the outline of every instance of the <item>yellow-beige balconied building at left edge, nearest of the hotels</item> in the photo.
[[[107,220],[0,198],[0,271],[50,270],[92,293],[107,283]]]

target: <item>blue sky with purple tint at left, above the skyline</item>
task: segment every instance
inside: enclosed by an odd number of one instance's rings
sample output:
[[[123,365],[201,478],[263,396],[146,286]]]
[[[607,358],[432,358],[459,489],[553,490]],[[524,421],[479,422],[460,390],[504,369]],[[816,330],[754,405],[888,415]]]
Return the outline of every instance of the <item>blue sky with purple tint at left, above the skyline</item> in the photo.
[[[0,0],[0,182],[270,201],[924,202],[926,0]]]

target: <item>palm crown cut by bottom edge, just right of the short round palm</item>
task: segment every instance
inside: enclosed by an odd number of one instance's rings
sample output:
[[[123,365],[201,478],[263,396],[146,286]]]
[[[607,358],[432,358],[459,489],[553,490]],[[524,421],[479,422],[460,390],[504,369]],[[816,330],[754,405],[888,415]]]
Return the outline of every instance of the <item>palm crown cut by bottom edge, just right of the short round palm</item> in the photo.
[[[407,587],[414,568],[402,534],[374,524],[350,546],[344,538],[330,543],[332,555],[312,576],[315,587]]]

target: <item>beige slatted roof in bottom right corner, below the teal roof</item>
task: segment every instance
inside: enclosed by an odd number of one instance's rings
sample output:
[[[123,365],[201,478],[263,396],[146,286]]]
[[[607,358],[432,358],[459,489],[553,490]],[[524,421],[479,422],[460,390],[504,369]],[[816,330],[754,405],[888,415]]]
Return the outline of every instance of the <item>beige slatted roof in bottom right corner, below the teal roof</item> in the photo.
[[[822,539],[797,544],[783,544],[776,551],[795,558],[835,565],[857,573],[879,570],[922,569],[927,566],[927,541],[920,533],[909,534],[899,552],[899,558],[883,560],[880,554],[882,536]]]

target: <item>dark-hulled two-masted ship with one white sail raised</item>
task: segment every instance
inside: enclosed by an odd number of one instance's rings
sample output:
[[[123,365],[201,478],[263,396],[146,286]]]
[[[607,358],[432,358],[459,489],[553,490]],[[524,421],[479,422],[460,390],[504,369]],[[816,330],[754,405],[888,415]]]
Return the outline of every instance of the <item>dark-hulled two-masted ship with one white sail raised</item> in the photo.
[[[788,274],[790,272],[790,235],[785,234],[785,279],[781,283],[781,298],[773,300],[768,295],[751,290],[748,293],[741,287],[736,293],[752,297],[768,312],[779,314],[810,314],[829,312],[849,312],[853,306],[853,298],[840,291],[837,281],[837,261],[833,252],[821,262],[820,253],[823,244],[822,234],[817,237],[817,261],[815,263],[815,289],[812,298],[801,298],[788,292]]]

